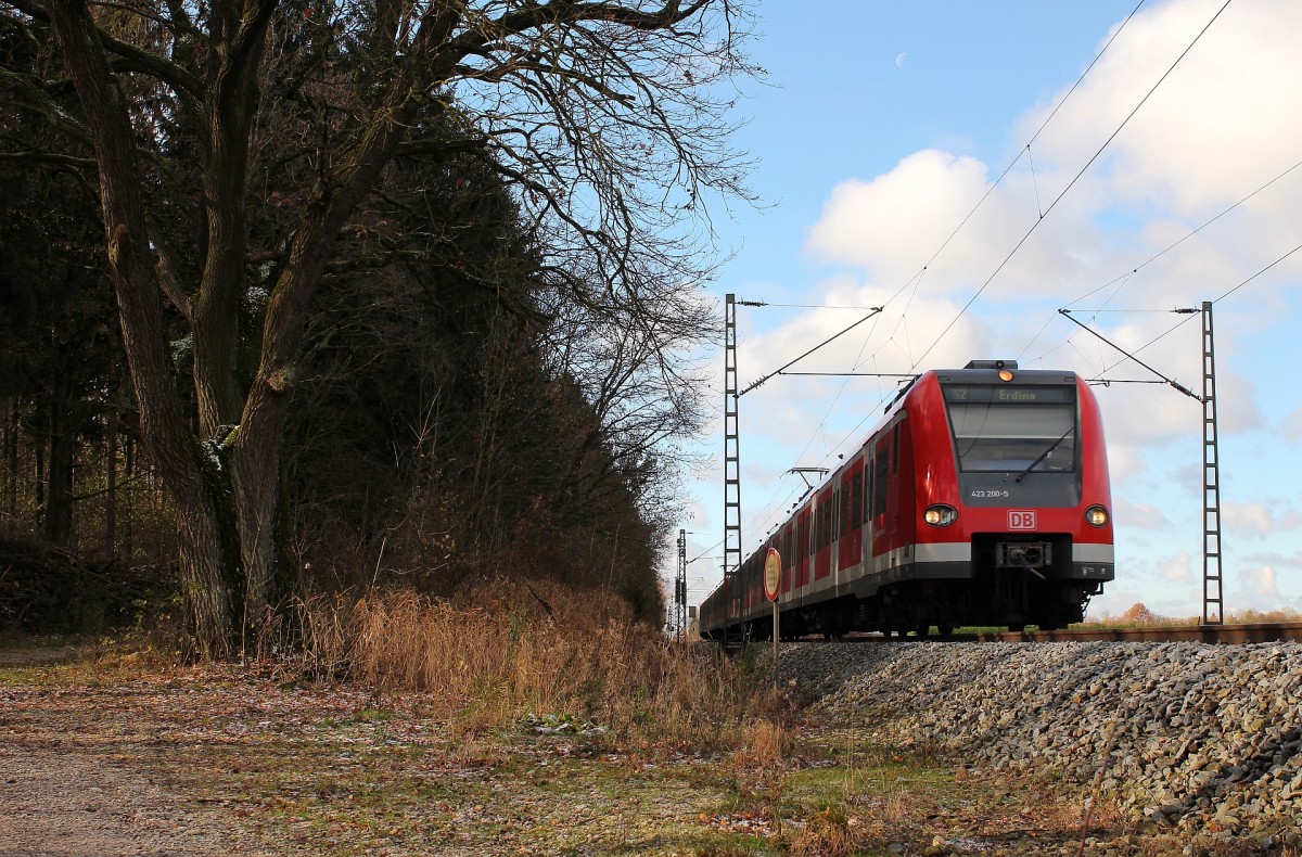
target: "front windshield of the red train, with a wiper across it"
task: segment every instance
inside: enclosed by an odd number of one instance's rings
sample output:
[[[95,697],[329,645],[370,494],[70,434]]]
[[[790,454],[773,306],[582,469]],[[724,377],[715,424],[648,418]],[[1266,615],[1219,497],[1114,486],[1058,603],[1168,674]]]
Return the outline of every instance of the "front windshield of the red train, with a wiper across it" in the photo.
[[[943,386],[963,473],[1074,473],[1075,387]]]

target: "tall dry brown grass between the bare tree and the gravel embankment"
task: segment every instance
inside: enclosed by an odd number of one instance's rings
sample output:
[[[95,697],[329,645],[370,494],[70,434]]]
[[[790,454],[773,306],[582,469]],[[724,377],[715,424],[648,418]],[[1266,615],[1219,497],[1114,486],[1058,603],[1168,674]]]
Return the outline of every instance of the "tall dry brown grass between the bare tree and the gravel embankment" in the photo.
[[[767,705],[716,647],[674,643],[609,593],[491,581],[452,600],[396,591],[299,612],[309,669],[424,692],[431,715],[470,733],[538,714],[702,746],[730,742]]]

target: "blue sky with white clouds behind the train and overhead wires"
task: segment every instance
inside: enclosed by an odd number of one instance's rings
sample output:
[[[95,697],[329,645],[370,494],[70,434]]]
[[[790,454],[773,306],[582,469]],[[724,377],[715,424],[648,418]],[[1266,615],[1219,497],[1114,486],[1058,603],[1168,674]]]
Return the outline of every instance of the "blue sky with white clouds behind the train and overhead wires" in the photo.
[[[1234,0],[1216,17],[1223,5],[1147,0],[1066,98],[1135,0],[759,4],[753,56],[768,77],[745,86],[737,145],[758,159],[753,186],[768,204],[716,211],[719,246],[734,258],[712,292],[885,306],[798,370],[1012,357],[1152,379],[1113,367],[1121,356],[1059,316],[1066,306],[1198,391],[1198,318],[1155,310],[1240,287],[1215,306],[1223,595],[1230,612],[1302,608],[1302,251],[1284,258],[1302,244],[1302,167],[1289,172],[1302,162],[1302,4]],[[742,309],[741,386],[862,315]],[[721,375],[721,354],[712,359]],[[892,392],[889,380],[779,376],[742,397],[747,552],[805,488],[786,471],[854,448]],[[1098,395],[1117,581],[1091,612],[1143,602],[1199,615],[1202,406],[1163,386]],[[687,485],[687,556],[700,557],[690,603],[723,574],[712,559],[723,552],[721,421],[700,449],[713,460]]]

